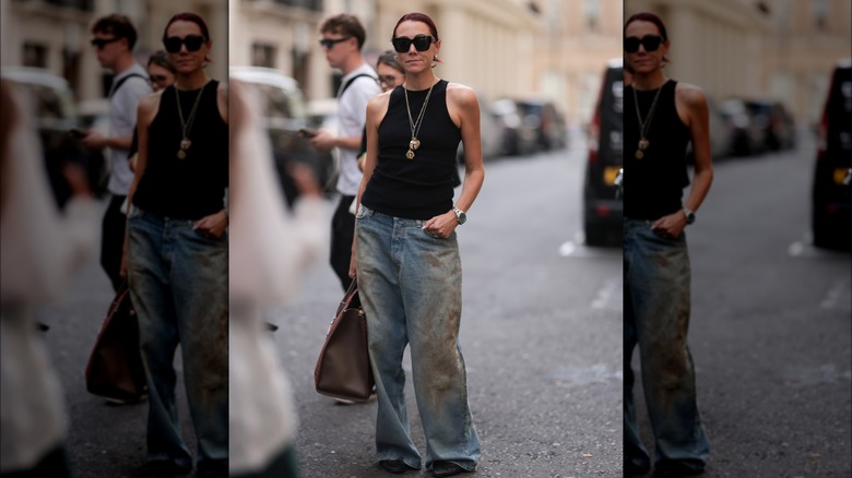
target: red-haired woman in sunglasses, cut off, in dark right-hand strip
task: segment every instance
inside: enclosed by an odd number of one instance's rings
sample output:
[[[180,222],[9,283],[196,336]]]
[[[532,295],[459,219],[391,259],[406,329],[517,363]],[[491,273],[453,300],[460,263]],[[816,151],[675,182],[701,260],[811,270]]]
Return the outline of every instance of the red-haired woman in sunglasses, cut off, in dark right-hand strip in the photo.
[[[690,268],[684,228],[693,224],[713,179],[708,105],[696,86],[663,73],[670,39],[652,13],[624,26],[624,453],[626,474],[644,474],[651,458],[639,439],[630,358],[639,345],[651,419],[654,470],[662,476],[702,473],[709,441],[698,411],[695,368],[687,345]],[[686,147],[695,151],[691,191]]]

